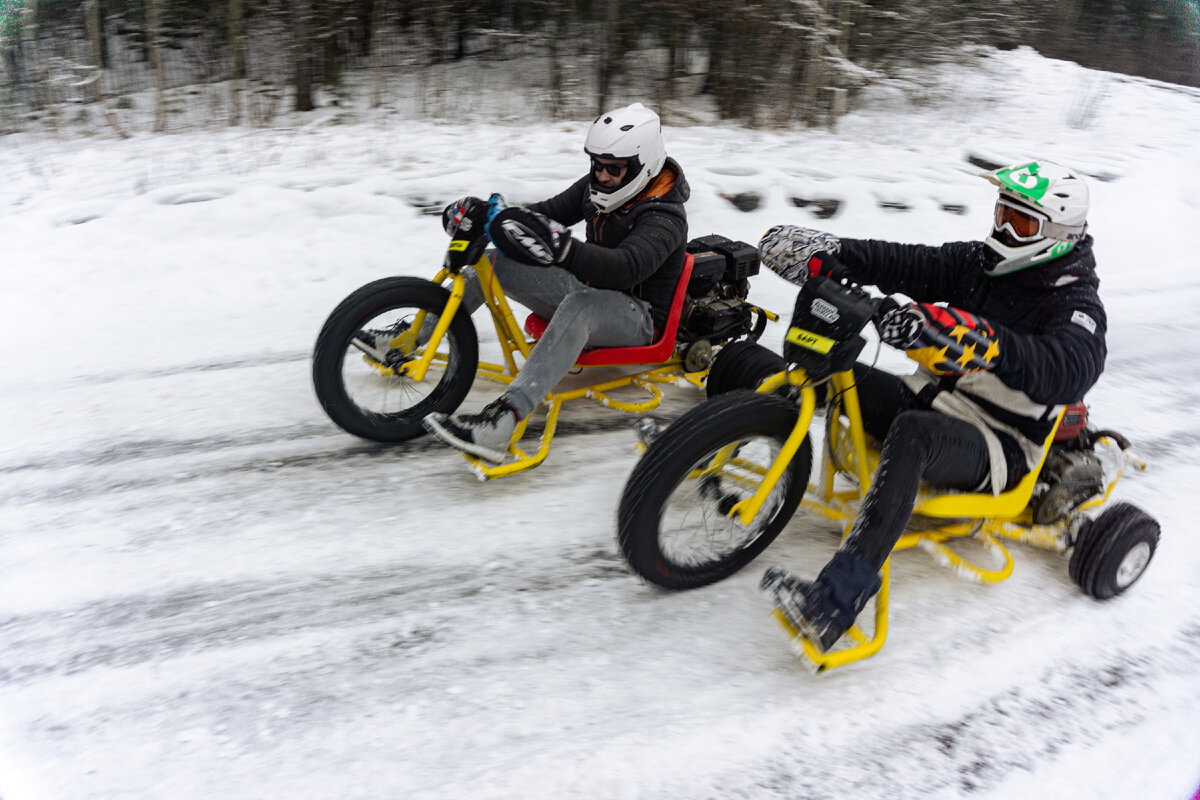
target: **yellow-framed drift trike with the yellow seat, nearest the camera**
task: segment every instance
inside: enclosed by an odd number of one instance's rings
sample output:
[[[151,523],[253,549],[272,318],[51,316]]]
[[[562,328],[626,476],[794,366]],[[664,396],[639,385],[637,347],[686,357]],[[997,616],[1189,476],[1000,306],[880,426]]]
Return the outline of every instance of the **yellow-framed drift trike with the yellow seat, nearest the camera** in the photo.
[[[622,494],[618,541],[635,572],[667,589],[721,581],[762,553],[798,510],[848,533],[878,462],[877,443],[863,429],[852,366],[865,345],[860,332],[881,303],[860,287],[811,278],[796,303],[786,361],[756,344],[737,343],[718,355],[710,399],[647,435]],[[821,384],[822,458],[810,485]],[[1158,523],[1128,503],[1094,518],[1087,513],[1105,503],[1129,465],[1145,469],[1124,437],[1093,429],[1082,404],[1066,407],[1037,468],[1015,488],[991,495],[923,487],[895,549],[919,547],[979,582],[1012,573],[1001,540],[1069,551],[1072,579],[1092,597],[1111,597],[1141,576],[1159,536]],[[967,537],[989,564],[961,553],[967,543],[958,540]],[[890,559],[881,571],[874,626],[852,627],[841,649],[821,652],[775,609],[818,672],[883,646],[889,566]],[[859,624],[870,616],[864,612]]]

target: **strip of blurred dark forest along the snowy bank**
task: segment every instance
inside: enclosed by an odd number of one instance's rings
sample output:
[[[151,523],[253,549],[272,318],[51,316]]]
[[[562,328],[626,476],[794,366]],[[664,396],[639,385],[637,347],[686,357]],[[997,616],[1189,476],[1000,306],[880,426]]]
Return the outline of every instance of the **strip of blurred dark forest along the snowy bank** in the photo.
[[[319,108],[590,119],[631,100],[673,125],[833,127],[889,83],[919,102],[923,71],[972,46],[1200,86],[1200,4],[0,0],[0,134],[268,127]],[[511,108],[480,101],[488,76],[520,78]]]

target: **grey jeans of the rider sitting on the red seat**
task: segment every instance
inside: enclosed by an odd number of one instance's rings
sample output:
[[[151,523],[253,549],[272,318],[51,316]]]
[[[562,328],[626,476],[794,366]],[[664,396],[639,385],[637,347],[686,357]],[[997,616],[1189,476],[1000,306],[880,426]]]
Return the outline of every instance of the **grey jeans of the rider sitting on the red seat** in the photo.
[[[505,391],[522,417],[571,371],[584,348],[636,347],[654,341],[650,303],[644,300],[624,291],[593,289],[562,267],[527,266],[500,253],[496,253],[493,269],[505,295],[550,320]],[[468,267],[463,277],[463,305],[474,313],[484,305],[479,276]]]

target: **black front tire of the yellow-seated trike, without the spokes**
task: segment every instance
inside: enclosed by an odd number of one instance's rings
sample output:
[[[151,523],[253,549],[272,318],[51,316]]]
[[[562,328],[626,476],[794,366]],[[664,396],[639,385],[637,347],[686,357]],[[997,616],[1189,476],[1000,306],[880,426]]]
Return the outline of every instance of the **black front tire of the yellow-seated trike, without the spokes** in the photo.
[[[722,486],[718,476],[706,479],[712,481],[706,491],[706,481],[689,476],[712,455],[738,441],[750,440],[752,447],[761,446],[755,443],[769,443],[773,452],[778,452],[796,426],[797,414],[796,405],[780,397],[740,390],[697,405],[665,429],[630,474],[617,512],[617,540],[634,572],[666,589],[694,589],[727,578],[762,553],[804,497],[812,468],[811,439],[805,438],[792,458],[781,479],[786,487],[775,500],[778,505],[774,512],[766,512],[769,516],[756,525],[756,531],[743,533],[744,528],[734,527],[722,513],[722,504],[727,507],[733,499],[748,497],[757,483],[748,486],[742,474],[742,483],[726,481]],[[690,487],[697,491],[689,493]],[[706,553],[698,561],[683,563],[671,552],[672,547],[664,548],[664,537],[670,540],[673,535],[672,530],[664,530],[664,517],[672,495],[680,488],[685,491],[685,501],[679,504],[684,513],[696,513],[700,517],[696,522],[710,522],[719,529],[716,535],[706,529],[701,539],[715,540],[726,534],[750,539],[714,554]],[[719,498],[712,495],[713,489]]]

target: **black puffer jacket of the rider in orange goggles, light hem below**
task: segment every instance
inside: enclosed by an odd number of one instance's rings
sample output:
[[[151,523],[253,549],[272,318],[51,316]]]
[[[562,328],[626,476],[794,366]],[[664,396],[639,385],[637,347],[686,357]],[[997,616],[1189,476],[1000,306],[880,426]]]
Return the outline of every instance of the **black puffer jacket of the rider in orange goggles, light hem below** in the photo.
[[[996,433],[1016,440],[1020,471],[1032,469],[1061,407],[1081,401],[1104,371],[1108,318],[1091,236],[1061,258],[996,277],[985,270],[1000,257],[982,241],[932,247],[842,239],[840,259],[863,283],[917,302],[946,301],[996,331],[991,371],[954,377],[922,368],[905,378],[930,408],[984,433],[995,493],[1014,457]]]

